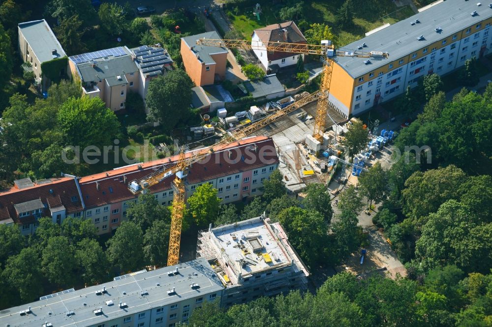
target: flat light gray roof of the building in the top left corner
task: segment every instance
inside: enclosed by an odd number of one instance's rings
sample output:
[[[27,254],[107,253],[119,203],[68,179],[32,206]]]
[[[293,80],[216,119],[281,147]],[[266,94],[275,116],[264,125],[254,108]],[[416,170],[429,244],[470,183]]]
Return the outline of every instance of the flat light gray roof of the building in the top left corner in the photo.
[[[18,27],[41,63],[54,59],[51,53],[53,49],[57,51],[58,58],[66,56],[62,45],[44,19],[20,23]]]

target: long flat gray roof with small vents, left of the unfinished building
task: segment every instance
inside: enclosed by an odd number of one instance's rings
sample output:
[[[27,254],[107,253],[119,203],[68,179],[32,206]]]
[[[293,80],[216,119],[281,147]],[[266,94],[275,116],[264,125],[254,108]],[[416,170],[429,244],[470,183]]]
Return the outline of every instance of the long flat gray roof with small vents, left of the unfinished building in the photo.
[[[169,276],[167,272],[176,267],[179,268],[179,274]],[[199,288],[191,289],[191,283],[198,284]],[[96,295],[96,291],[103,287],[106,287],[106,293]],[[173,287],[176,294],[169,296],[167,291]],[[119,280],[62,292],[64,294],[2,310],[0,326],[41,327],[45,322],[51,323],[53,327],[90,326],[218,292],[223,288],[209,263],[205,259],[197,259],[150,272],[127,274]],[[142,291],[148,294],[142,296]],[[107,305],[110,300],[113,305]],[[120,301],[126,303],[127,307],[120,308]],[[21,316],[20,312],[29,306],[32,313]],[[100,307],[102,314],[96,315],[93,311]],[[74,314],[67,316],[69,311]]]

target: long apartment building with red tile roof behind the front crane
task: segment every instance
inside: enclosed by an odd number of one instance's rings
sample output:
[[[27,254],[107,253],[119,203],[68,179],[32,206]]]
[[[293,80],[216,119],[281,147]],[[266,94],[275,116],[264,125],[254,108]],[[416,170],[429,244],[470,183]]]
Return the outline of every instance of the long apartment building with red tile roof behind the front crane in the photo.
[[[34,233],[40,217],[51,217],[54,222],[62,223],[65,217],[71,216],[91,219],[99,234],[109,233],[126,218],[128,206],[137,201],[138,194],[132,193],[128,184],[177,160],[178,156],[172,156],[81,178],[65,175],[35,183],[29,180],[28,187],[14,186],[0,192],[0,222],[16,223],[29,235]],[[278,157],[271,138],[244,138],[217,148],[206,160],[189,167],[186,196],[191,196],[204,183],[217,189],[223,203],[261,195],[263,181],[277,166]],[[173,176],[148,190],[161,205],[172,203]],[[27,202],[29,206],[24,205]]]

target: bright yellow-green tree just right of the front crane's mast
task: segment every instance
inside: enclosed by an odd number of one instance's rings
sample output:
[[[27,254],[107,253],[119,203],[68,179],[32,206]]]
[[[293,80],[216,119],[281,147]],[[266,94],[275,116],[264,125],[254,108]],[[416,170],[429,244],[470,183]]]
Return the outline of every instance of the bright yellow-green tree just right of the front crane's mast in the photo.
[[[198,226],[208,226],[217,218],[220,201],[217,197],[217,189],[205,183],[197,187],[193,195],[188,198],[188,213]]]

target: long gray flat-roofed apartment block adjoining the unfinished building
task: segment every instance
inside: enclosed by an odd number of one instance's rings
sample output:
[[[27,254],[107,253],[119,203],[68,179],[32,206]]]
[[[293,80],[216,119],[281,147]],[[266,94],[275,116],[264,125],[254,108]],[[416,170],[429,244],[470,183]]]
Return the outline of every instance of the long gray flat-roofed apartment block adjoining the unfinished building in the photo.
[[[204,259],[66,290],[0,313],[1,326],[174,327],[224,286]]]

